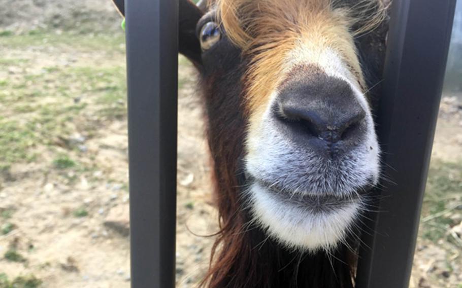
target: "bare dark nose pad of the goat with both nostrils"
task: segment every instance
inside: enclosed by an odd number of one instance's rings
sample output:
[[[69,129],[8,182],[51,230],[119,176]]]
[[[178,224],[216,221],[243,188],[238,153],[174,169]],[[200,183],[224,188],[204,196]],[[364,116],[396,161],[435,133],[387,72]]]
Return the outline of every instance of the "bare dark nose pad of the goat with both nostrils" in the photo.
[[[281,106],[281,114],[289,126],[298,126],[309,135],[318,137],[327,142],[347,140],[359,129],[366,113],[360,107],[330,107],[325,105],[316,107],[303,107],[291,105],[290,102]],[[338,108],[338,109],[336,109]],[[333,111],[337,110],[337,111]]]

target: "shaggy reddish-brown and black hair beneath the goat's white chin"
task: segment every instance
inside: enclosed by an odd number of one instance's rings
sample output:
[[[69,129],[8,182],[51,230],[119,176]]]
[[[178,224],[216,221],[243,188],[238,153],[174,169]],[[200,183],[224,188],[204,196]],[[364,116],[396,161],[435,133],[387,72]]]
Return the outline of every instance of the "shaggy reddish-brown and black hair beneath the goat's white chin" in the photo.
[[[249,180],[243,161],[223,169],[216,160],[215,168],[220,169],[214,172],[214,195],[220,231],[202,287],[353,287],[357,241],[349,239],[334,251],[316,253],[281,246],[251,220],[241,193]]]

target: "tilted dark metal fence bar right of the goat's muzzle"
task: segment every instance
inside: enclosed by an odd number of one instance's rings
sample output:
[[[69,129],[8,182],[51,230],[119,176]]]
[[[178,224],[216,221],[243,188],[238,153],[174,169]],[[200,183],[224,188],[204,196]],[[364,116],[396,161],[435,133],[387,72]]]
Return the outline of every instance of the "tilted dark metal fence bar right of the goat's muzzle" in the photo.
[[[377,112],[383,175],[391,181],[372,215],[375,233],[363,237],[369,247],[361,247],[357,288],[409,286],[455,2],[393,1]]]

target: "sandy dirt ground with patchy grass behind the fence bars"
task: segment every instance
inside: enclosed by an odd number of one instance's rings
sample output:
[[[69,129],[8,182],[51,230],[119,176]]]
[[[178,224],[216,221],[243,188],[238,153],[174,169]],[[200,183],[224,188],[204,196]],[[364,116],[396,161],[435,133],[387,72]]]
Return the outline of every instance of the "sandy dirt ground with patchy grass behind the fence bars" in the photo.
[[[120,19],[105,0],[0,7],[0,288],[129,287]],[[195,72],[179,61],[176,274],[193,287],[213,241],[197,235],[217,225]],[[461,152],[462,105],[445,97],[412,287],[462,287]]]

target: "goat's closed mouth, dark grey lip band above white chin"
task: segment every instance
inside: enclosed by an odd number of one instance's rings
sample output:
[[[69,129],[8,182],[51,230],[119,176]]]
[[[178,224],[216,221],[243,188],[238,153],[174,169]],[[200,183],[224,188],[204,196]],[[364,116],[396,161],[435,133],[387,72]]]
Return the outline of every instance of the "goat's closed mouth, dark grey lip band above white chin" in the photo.
[[[321,194],[314,193],[300,194],[290,189],[283,189],[270,185],[265,181],[258,181],[255,183],[264,188],[265,191],[276,197],[281,203],[286,203],[294,207],[310,210],[313,213],[332,212],[338,209],[345,208],[351,204],[358,204],[362,202],[363,193],[349,193],[349,194]],[[368,191],[372,185],[361,188],[360,191]]]

